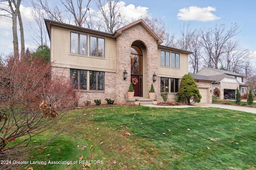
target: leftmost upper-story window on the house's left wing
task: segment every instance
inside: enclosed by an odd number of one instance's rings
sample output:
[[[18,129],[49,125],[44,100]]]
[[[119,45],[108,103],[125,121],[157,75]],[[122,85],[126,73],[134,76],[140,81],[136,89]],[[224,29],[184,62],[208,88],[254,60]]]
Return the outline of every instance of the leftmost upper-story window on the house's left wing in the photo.
[[[87,35],[70,33],[70,53],[87,55]]]

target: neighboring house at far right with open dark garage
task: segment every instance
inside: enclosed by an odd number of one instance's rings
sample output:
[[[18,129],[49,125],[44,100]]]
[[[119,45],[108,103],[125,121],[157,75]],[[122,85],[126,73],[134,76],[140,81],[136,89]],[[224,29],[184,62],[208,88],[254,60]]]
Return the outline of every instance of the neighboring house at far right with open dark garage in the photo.
[[[220,89],[220,99],[224,99],[225,95],[229,95],[231,100],[235,100],[236,88],[239,89],[241,95],[246,93],[244,76],[241,74],[209,67],[204,67],[196,74],[216,80],[212,84],[212,89],[214,90],[216,87]]]

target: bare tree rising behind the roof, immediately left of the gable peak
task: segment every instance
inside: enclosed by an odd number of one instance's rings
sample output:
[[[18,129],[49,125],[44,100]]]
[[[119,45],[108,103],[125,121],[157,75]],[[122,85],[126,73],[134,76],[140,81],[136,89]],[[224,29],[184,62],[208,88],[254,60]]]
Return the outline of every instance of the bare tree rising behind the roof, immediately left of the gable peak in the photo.
[[[108,33],[114,33],[116,29],[127,23],[120,11],[118,2],[119,0],[95,0],[106,27],[104,31]]]

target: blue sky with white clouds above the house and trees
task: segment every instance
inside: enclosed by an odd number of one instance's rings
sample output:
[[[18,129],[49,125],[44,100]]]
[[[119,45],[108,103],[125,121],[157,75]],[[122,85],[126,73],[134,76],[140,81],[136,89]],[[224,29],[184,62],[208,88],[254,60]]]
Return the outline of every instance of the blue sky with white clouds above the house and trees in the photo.
[[[55,3],[57,0],[48,0]],[[160,18],[165,21],[166,27],[176,35],[179,34],[180,25],[190,21],[193,28],[214,27],[216,24],[237,23],[240,33],[236,39],[240,46],[252,51],[253,62],[256,63],[256,0],[120,0],[126,18],[138,16]],[[84,3],[86,5],[86,3]],[[22,0],[20,11],[25,30],[25,46],[35,48],[32,41],[30,25],[34,24],[30,16],[30,5]],[[90,8],[96,10],[95,6]],[[12,22],[10,19],[0,18],[0,55],[7,55],[13,51]]]

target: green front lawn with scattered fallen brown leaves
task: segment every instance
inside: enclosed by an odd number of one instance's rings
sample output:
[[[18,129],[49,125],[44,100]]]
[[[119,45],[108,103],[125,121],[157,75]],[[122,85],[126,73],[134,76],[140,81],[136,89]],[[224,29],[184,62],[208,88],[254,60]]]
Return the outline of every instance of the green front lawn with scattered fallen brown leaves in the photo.
[[[80,109],[70,111],[65,121],[70,121],[80,112]],[[26,161],[46,161],[46,165],[29,163],[18,168],[256,168],[256,114],[253,113],[211,107],[177,109],[115,106],[90,108],[84,117],[86,120],[73,127],[72,131],[76,131],[75,133],[70,132],[71,134],[59,137],[41,152],[37,149],[26,154]],[[37,141],[32,145],[48,139],[49,134],[58,131],[61,123],[51,131],[32,139]],[[49,164],[49,160],[71,161],[72,164]],[[74,161],[78,161],[77,164]]]

